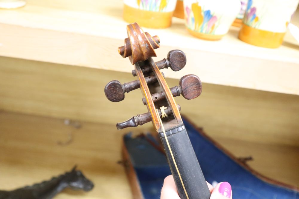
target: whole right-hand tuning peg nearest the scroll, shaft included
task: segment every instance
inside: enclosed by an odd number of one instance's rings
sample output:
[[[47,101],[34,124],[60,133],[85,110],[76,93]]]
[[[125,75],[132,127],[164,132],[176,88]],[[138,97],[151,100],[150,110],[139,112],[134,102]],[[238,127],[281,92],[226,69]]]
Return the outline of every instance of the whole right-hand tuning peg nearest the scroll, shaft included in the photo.
[[[184,68],[184,66],[186,65],[186,62],[187,62],[186,55],[183,51],[171,50],[167,54],[167,58],[166,59],[164,58],[161,61],[157,61],[156,65],[159,69],[170,67],[171,70],[173,70],[173,71],[179,71],[182,68]],[[142,70],[143,73],[149,73],[151,71],[152,71],[151,67],[144,67]],[[132,75],[134,77],[136,76],[135,70],[132,70]]]

